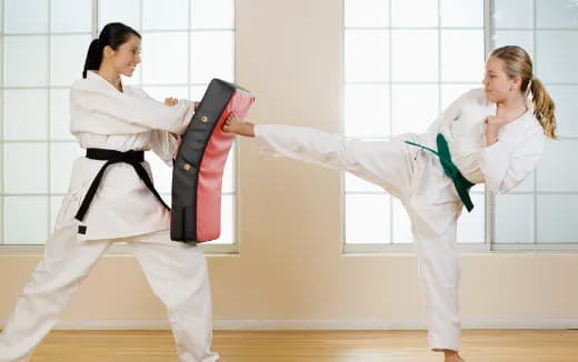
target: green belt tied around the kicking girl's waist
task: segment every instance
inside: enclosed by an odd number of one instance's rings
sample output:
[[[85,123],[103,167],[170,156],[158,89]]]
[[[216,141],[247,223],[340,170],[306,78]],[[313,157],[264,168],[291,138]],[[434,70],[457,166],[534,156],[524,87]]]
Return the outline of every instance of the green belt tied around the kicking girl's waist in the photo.
[[[421,149],[428,150],[431,153],[436,154],[439,158],[439,161],[441,162],[441,167],[444,168],[444,173],[448,178],[451,179],[454,182],[454,185],[456,187],[456,190],[458,191],[459,198],[461,199],[461,202],[468,209],[468,212],[474,209],[474,203],[471,202],[471,199],[469,197],[469,190],[474,185],[474,183],[469,182],[462,174],[459,172],[459,169],[454,162],[451,162],[451,154],[449,153],[448,142],[444,138],[444,134],[438,133],[438,137],[436,138],[436,143],[438,144],[438,151],[435,151],[428,147],[425,147],[422,144],[413,143],[410,141],[406,141],[406,143],[411,145],[417,145]]]

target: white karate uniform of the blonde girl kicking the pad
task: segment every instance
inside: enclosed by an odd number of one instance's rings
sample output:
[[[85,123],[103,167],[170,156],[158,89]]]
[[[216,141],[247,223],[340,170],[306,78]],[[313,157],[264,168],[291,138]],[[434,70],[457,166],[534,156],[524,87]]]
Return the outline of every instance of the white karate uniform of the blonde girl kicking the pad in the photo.
[[[425,133],[407,133],[389,141],[360,141],[272,124],[257,124],[255,133],[262,152],[351,172],[402,202],[418,254],[429,345],[434,350],[458,350],[461,263],[456,227],[462,203],[439,158],[403,141],[437,149],[436,135],[440,132],[464,177],[474,183],[486,182],[494,192],[506,192],[534,170],[544,151],[542,128],[530,102],[528,108],[518,120],[500,129],[498,142],[490,147],[486,147],[484,121],[496,114],[496,104],[485,100],[481,89],[460,97]]]

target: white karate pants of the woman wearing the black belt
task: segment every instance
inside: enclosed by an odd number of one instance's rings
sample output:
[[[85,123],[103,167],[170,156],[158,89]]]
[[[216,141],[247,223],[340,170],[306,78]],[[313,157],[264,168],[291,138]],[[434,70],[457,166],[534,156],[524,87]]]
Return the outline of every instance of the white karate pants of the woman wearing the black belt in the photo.
[[[43,260],[0,334],[0,362],[30,361],[92,265],[119,241],[77,241],[76,233],[77,225],[69,222],[48,240]],[[212,311],[202,251],[171,241],[168,230],[120,240],[132,247],[152,291],[167,306],[180,360],[217,361],[218,355],[210,351]]]

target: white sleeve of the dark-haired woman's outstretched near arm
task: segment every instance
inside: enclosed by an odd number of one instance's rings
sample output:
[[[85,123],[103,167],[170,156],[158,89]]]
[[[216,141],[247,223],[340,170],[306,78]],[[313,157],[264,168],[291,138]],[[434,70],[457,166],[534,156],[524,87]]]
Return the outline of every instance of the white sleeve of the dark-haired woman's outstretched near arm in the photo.
[[[72,89],[71,100],[72,95],[76,95],[77,99],[80,98],[79,105],[90,112],[97,121],[99,117],[112,118],[150,130],[162,130],[177,134],[185,132],[195,113],[193,102],[179,99],[177,105],[169,107],[148,97],[144,91],[139,91],[142,94]]]

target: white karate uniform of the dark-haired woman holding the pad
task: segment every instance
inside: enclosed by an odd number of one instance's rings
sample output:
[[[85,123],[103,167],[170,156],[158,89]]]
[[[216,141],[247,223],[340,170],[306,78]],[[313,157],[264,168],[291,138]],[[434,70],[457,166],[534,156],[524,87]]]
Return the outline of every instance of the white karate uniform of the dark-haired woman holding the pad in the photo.
[[[152,149],[168,164],[177,145],[172,133],[181,134],[193,112],[188,100],[168,107],[137,88],[123,86],[119,92],[93,71],[70,91],[71,132],[82,148]],[[132,165],[109,165],[84,220],[74,219],[104,163],[84,157],[76,160],[44,259],[0,334],[0,362],[29,361],[91,267],[119,241],[132,247],[152,291],[166,304],[180,360],[217,361],[210,351],[212,311],[205,255],[193,244],[170,240],[170,213]],[[150,175],[149,164],[143,165]],[[79,225],[86,227],[84,234],[79,233]]]

